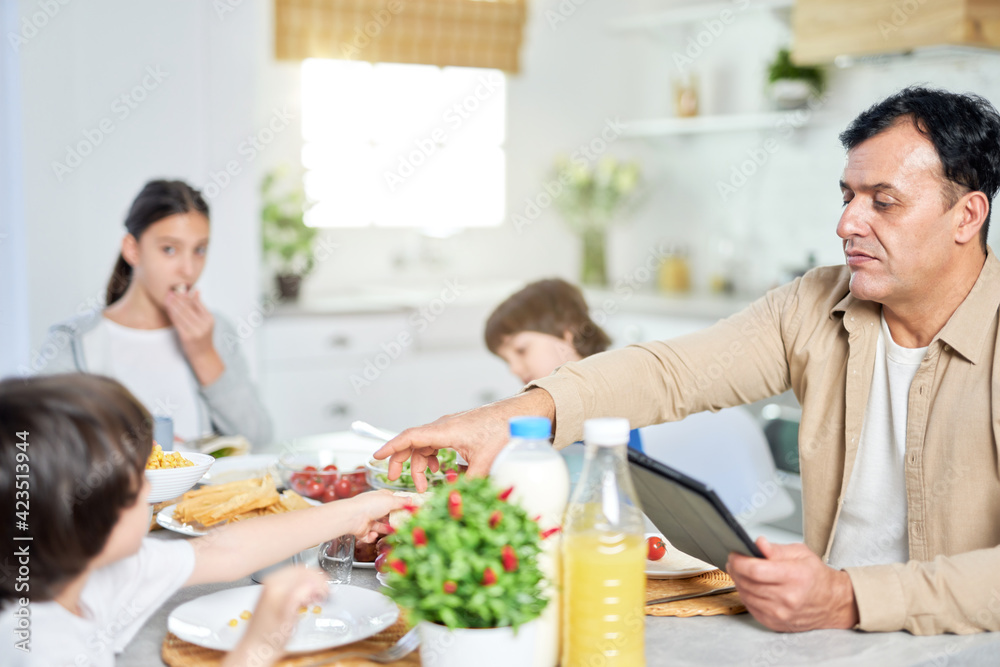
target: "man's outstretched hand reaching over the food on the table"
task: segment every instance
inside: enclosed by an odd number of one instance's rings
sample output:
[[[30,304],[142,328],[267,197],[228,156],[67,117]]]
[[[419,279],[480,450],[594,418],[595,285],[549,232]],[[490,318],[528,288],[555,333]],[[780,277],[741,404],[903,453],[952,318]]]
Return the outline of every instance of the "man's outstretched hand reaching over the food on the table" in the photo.
[[[474,410],[442,417],[426,426],[408,428],[375,452],[376,459],[389,458],[389,479],[398,479],[403,462],[410,459],[410,472],[418,491],[427,489],[424,471],[438,471],[437,450],[457,450],[469,462],[468,474],[485,476],[509,439],[507,422],[525,415],[555,420],[555,403],[544,389],[490,403]]]

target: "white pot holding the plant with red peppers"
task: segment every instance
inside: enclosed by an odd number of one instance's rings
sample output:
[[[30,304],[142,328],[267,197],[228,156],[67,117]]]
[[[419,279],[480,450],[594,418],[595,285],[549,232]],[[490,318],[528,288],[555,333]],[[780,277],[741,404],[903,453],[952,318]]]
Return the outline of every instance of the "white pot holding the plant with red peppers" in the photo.
[[[420,624],[420,661],[424,667],[511,667],[530,665],[538,621],[511,628],[449,630]]]

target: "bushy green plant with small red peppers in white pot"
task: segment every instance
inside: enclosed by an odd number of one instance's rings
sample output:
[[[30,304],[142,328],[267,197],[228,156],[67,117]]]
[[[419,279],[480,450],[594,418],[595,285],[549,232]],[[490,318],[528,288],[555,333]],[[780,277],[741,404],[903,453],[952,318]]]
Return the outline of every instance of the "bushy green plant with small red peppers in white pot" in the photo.
[[[488,479],[449,482],[388,538],[387,594],[420,623],[425,665],[529,664],[548,600],[538,524]]]

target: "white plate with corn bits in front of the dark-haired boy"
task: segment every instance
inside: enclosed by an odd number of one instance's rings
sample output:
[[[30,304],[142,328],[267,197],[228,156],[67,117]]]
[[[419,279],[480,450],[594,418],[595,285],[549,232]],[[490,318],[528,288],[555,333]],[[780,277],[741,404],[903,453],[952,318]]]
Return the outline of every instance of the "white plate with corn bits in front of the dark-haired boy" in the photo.
[[[250,624],[240,614],[254,610],[261,590],[261,586],[229,588],[186,602],[170,613],[167,629],[192,644],[231,651]],[[299,615],[285,646],[289,653],[320,651],[371,637],[399,616],[396,605],[381,593],[346,584],[330,586],[320,613],[314,614],[313,606]],[[238,621],[236,627],[230,627],[231,619]]]

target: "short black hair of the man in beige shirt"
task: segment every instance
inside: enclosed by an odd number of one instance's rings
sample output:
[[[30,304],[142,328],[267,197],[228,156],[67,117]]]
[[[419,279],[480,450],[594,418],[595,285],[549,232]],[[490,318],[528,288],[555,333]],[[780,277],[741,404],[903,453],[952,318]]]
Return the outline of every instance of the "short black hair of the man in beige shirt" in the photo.
[[[953,184],[943,192],[947,208],[969,191],[990,200],[979,233],[985,252],[993,197],[1000,190],[1000,114],[978,95],[911,86],[863,111],[840,134],[840,143],[849,151],[900,118],[912,120],[934,144],[944,176]]]

